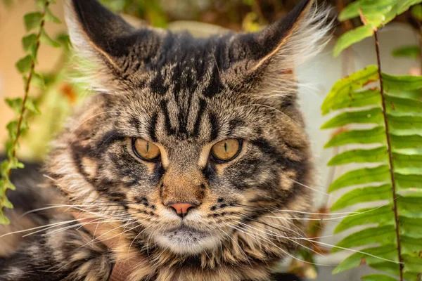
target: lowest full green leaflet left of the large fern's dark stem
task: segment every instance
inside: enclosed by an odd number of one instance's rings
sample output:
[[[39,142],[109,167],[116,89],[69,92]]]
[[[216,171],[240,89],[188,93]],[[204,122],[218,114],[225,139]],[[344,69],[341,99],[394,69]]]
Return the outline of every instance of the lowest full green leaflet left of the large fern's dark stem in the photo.
[[[363,249],[362,252],[364,252],[366,254],[354,253],[351,256],[347,257],[347,259],[342,261],[333,270],[333,274],[337,274],[337,273],[340,273],[342,271],[349,270],[351,268],[355,268],[355,267],[359,266],[362,263],[362,261],[364,261],[366,264],[368,264],[370,266],[373,266],[376,263],[384,263],[385,261],[383,261],[383,259],[388,259],[390,261],[396,261],[396,262],[397,262],[397,259],[398,259],[397,249],[396,249],[394,244],[388,244],[388,245],[381,246],[381,247],[367,248],[367,249]],[[378,258],[373,257],[373,256],[369,256],[368,254],[378,256]],[[382,258],[382,259],[379,259],[379,258]],[[392,263],[392,264],[394,265],[395,263]],[[398,265],[397,265],[397,268],[398,268]]]

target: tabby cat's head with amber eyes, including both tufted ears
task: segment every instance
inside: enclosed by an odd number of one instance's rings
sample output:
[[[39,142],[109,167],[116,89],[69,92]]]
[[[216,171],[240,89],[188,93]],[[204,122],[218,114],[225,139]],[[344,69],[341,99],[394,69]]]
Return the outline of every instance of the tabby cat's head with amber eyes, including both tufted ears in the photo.
[[[56,185],[89,212],[121,219],[140,249],[288,244],[262,227],[297,228],[269,212],[309,207],[293,70],[323,45],[325,15],[308,2],[256,34],[194,39],[134,30],[94,0],[69,1],[72,43],[97,65],[96,95],[54,145]],[[250,238],[259,231],[263,241]]]

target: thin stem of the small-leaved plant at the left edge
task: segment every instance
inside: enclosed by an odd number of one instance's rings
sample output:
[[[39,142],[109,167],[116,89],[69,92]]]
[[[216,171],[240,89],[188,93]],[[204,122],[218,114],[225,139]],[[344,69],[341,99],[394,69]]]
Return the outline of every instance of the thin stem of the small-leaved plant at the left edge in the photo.
[[[16,147],[18,146],[18,141],[19,141],[19,137],[20,137],[20,133],[21,133],[20,126],[22,126],[23,118],[25,116],[25,111],[26,111],[25,103],[26,103],[27,98],[28,98],[29,93],[30,93],[32,76],[34,74],[34,69],[35,69],[35,60],[37,58],[39,45],[40,45],[41,32],[42,32],[42,29],[43,29],[44,24],[45,24],[45,15],[46,15],[47,8],[49,7],[49,4],[50,4],[49,0],[46,0],[44,2],[44,11],[42,11],[42,13],[41,13],[41,22],[39,23],[39,31],[37,33],[36,45],[35,45],[35,50],[34,50],[34,58],[32,58],[30,72],[28,74],[28,78],[27,78],[27,81],[26,81],[26,84],[25,84],[25,93],[24,93],[24,96],[23,96],[22,105],[20,107],[20,115],[19,115],[19,119],[18,119],[18,128],[16,129],[16,137],[13,140],[12,148],[11,148],[11,150],[12,150],[11,157],[9,157],[9,159],[8,159],[9,166],[12,163],[12,161],[15,158],[15,155],[16,155]],[[11,171],[12,171],[11,168],[8,168],[8,171],[7,171],[8,176],[11,176]],[[6,181],[9,181],[8,178],[6,178]],[[0,198],[0,208],[4,207],[4,200],[6,198],[7,190],[8,189],[4,190],[4,197]]]

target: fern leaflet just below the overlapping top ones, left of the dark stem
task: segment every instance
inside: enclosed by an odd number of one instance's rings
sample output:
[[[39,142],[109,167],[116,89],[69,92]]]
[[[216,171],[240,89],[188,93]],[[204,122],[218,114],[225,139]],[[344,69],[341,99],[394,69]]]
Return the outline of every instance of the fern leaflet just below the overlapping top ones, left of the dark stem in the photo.
[[[347,124],[383,124],[384,117],[381,108],[375,107],[369,110],[347,111],[340,113],[325,122],[321,129],[329,129]]]

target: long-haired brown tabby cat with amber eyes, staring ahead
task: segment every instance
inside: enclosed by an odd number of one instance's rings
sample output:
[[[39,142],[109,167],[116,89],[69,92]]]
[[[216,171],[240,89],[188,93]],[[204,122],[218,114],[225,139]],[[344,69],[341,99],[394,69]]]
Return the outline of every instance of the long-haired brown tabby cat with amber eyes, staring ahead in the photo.
[[[11,192],[38,190],[41,227],[0,259],[0,280],[298,280],[271,270],[312,207],[295,66],[324,48],[328,11],[303,0],[260,32],[193,38],[136,30],[96,0],[65,6],[95,94],[39,187]]]

